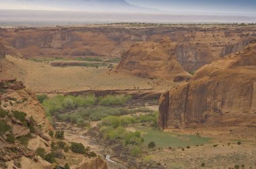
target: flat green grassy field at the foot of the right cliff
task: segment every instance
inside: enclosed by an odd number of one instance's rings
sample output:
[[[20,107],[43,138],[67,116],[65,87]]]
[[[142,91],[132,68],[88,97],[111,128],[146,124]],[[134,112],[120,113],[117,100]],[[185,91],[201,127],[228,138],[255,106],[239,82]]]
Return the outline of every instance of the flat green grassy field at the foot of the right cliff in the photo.
[[[144,138],[143,146],[148,146],[150,142],[155,142],[156,147],[185,147],[200,144],[211,143],[209,137],[197,137],[197,135],[185,135],[177,132],[164,132],[154,128],[136,127],[137,131],[141,131]]]

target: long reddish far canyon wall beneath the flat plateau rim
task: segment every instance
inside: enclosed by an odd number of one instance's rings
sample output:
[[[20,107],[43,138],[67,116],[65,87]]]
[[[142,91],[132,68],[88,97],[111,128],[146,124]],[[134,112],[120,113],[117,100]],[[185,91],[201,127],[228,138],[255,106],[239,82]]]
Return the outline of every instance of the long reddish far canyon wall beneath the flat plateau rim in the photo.
[[[53,27],[0,30],[0,37],[26,58],[120,57],[138,42],[177,43],[177,60],[190,72],[226,54],[238,52],[256,39],[256,27],[214,25],[184,27]]]

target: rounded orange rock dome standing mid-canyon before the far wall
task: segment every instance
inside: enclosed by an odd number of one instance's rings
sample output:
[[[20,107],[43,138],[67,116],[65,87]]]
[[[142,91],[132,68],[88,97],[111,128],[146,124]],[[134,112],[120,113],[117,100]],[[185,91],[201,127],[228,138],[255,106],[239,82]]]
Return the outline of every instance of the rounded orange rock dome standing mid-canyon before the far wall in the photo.
[[[175,58],[177,44],[164,38],[160,42],[143,42],[131,46],[125,52],[117,70],[125,70],[137,76],[146,78],[163,78],[174,80],[175,77],[183,77],[187,80],[190,75],[183,70]]]

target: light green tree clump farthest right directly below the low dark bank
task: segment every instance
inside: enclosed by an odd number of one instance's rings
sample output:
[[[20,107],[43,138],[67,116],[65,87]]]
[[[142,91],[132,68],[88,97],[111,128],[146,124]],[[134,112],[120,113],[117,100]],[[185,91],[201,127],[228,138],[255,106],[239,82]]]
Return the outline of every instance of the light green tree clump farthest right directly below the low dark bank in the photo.
[[[106,95],[99,98],[99,105],[123,105],[127,101],[131,100],[131,95]]]

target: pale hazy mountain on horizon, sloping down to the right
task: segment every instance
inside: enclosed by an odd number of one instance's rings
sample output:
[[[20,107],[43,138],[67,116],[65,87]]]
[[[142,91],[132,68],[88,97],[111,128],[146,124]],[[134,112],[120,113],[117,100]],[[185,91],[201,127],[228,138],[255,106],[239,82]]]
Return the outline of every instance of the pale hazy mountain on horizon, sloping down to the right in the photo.
[[[32,9],[57,11],[153,12],[125,0],[1,0],[0,9]]]

